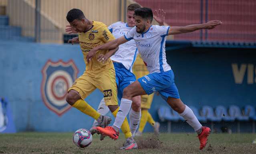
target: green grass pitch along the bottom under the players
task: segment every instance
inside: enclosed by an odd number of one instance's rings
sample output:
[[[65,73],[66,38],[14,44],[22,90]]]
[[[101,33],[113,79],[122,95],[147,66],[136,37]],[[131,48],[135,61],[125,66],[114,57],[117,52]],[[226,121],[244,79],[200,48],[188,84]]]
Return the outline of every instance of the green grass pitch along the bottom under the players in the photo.
[[[210,134],[204,150],[199,150],[196,134],[160,134],[159,138],[151,133],[137,138],[139,149],[122,151],[119,147],[125,141],[123,134],[116,141],[106,137],[100,141],[99,135],[93,136],[93,142],[87,148],[78,148],[72,140],[72,133],[24,132],[0,134],[0,153],[29,154],[256,154],[256,144],[252,141],[256,134]],[[209,147],[210,145],[210,147]]]

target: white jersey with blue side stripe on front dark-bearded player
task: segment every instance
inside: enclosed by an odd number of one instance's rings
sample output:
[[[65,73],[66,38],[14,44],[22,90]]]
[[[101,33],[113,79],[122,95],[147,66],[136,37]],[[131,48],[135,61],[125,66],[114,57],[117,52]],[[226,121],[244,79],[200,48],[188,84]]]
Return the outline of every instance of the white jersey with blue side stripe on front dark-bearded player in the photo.
[[[165,41],[169,28],[169,26],[152,25],[146,32],[137,33],[134,27],[125,34],[127,40],[135,40],[149,73],[171,70],[165,55]]]

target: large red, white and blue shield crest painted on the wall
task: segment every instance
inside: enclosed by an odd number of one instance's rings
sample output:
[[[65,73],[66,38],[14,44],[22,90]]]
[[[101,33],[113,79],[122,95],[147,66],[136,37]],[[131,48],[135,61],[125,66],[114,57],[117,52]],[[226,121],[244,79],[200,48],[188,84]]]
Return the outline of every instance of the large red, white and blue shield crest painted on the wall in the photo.
[[[53,62],[49,59],[42,68],[42,100],[58,116],[71,108],[66,102],[66,95],[69,87],[76,84],[77,74],[78,69],[73,60]]]

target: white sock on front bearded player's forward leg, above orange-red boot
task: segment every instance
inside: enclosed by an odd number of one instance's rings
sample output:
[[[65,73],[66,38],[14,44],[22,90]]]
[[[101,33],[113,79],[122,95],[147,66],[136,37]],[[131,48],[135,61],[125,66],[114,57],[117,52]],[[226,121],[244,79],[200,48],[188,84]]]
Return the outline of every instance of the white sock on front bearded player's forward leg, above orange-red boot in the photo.
[[[117,128],[121,128],[123,121],[125,120],[125,117],[128,115],[130,109],[131,109],[131,103],[133,101],[129,100],[129,99],[121,99],[121,103],[120,103],[120,107],[119,110],[117,112],[117,116],[115,117],[115,122],[114,122],[114,126],[116,126]]]

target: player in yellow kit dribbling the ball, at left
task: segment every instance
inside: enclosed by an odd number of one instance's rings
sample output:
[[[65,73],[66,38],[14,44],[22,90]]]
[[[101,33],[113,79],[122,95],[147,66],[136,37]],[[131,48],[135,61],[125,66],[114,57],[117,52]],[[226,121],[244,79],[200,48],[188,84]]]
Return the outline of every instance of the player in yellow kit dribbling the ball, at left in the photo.
[[[78,32],[79,36],[69,41],[79,41],[86,70],[83,75],[75,80],[72,87],[69,88],[66,100],[73,107],[97,120],[99,122],[98,126],[105,127],[110,123],[111,118],[98,113],[84,99],[96,88],[99,89],[103,92],[106,105],[112,114],[116,116],[119,106],[117,101],[115,69],[111,59],[108,59],[105,63],[100,63],[97,59],[102,54],[108,54],[109,50],[97,51],[96,56],[91,61],[87,61],[86,56],[93,47],[107,43],[115,38],[105,24],[86,19],[83,12],[79,9],[70,10],[67,14],[67,20],[72,28]],[[125,137],[132,138],[127,118],[125,118],[121,129]],[[91,130],[91,132],[95,133],[97,130]]]

